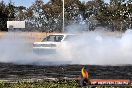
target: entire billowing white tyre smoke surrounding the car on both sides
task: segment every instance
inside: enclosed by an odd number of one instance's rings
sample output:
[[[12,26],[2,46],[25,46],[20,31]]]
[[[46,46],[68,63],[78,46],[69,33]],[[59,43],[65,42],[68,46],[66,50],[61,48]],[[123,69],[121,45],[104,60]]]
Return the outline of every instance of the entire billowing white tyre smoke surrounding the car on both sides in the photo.
[[[72,26],[73,27],[73,26]],[[74,30],[77,26],[74,27]],[[56,55],[39,56],[33,53],[32,43],[25,37],[8,33],[0,39],[0,62],[17,64],[132,64],[132,30],[109,32],[102,28],[77,34],[57,49]],[[71,29],[70,29],[71,30]]]

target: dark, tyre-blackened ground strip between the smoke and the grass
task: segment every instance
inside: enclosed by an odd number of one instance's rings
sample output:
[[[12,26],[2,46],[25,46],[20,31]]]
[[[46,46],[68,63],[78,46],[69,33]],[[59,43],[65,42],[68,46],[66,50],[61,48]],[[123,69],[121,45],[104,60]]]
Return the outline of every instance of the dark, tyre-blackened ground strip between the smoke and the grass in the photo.
[[[78,78],[83,65],[17,65],[0,63],[0,79]],[[132,79],[132,66],[85,65],[91,79]]]

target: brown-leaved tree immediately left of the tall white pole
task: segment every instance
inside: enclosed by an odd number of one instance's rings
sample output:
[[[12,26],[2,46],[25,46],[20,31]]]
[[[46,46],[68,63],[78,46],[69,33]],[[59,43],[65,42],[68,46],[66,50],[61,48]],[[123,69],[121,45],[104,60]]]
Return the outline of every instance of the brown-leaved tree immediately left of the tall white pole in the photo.
[[[61,32],[63,22],[62,0],[50,0],[43,6],[47,13],[47,32]]]

